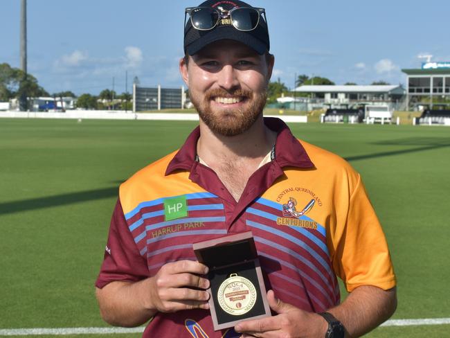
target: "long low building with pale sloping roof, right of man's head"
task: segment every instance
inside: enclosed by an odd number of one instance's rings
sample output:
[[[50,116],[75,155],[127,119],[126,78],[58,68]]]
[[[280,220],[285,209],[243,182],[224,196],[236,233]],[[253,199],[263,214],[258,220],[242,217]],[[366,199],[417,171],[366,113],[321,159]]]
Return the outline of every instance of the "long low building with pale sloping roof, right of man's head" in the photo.
[[[303,85],[294,89],[307,94],[312,105],[350,109],[365,105],[389,105],[401,109],[405,89],[401,85]]]

